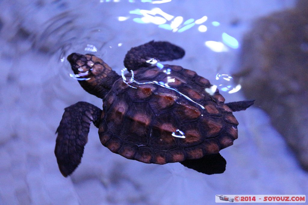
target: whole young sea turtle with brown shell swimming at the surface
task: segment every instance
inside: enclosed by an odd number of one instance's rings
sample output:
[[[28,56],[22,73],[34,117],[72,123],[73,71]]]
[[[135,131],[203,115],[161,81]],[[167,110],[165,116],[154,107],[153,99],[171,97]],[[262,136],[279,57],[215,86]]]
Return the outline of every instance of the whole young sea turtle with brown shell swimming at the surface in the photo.
[[[212,85],[196,72],[155,64],[184,53],[166,41],[134,47],[124,59],[130,73],[122,77],[93,54],[67,57],[83,89],[103,99],[103,110],[87,102],[65,108],[55,145],[63,176],[81,162],[91,122],[99,128],[101,143],[128,159],[180,162],[205,174],[225,171],[219,151],[237,139],[238,122],[232,112],[245,110],[253,101],[225,104],[218,89],[206,92]]]

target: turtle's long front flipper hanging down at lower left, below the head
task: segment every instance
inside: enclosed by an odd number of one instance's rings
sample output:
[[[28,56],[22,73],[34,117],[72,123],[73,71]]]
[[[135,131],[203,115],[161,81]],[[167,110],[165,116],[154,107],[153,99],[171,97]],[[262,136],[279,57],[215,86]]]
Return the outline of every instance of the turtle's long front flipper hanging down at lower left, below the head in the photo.
[[[78,102],[64,110],[56,131],[55,156],[62,175],[67,177],[80,164],[90,124],[99,127],[102,110],[87,102]]]

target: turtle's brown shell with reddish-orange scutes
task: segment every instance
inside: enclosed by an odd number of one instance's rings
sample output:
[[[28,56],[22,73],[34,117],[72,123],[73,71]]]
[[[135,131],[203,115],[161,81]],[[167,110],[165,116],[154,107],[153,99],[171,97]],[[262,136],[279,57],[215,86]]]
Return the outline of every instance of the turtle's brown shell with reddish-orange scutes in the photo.
[[[179,79],[174,88],[205,109],[160,85],[132,83],[134,89],[119,79],[103,100],[101,143],[128,159],[155,164],[199,159],[232,145],[238,122],[219,92],[209,96],[204,90],[209,81],[194,72],[173,65],[165,68]],[[135,73],[139,82],[165,79],[166,73],[153,67]],[[172,136],[177,129],[185,138]]]

